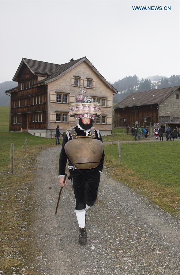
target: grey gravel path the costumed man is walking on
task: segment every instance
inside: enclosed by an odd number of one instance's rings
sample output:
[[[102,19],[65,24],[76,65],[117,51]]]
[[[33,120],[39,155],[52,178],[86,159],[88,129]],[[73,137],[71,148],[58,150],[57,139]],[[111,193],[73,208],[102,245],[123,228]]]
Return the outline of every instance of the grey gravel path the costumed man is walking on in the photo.
[[[179,222],[144,196],[103,170],[96,205],[88,211],[88,244],[78,243],[78,224],[70,181],[58,213],[58,158],[61,146],[37,158],[34,246],[42,253],[32,265],[38,274],[178,275]],[[49,189],[51,187],[51,189]]]

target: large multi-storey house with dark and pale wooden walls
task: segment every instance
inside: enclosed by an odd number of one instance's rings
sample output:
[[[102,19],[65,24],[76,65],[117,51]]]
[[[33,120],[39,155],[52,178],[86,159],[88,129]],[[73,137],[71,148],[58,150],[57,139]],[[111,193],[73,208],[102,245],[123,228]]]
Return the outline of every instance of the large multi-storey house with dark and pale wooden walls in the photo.
[[[95,127],[102,135],[111,133],[113,94],[117,90],[86,57],[61,65],[23,58],[13,80],[18,86],[5,92],[10,95],[10,131],[49,138],[57,125],[61,132],[77,125],[68,116],[69,105],[83,88],[102,107]]]

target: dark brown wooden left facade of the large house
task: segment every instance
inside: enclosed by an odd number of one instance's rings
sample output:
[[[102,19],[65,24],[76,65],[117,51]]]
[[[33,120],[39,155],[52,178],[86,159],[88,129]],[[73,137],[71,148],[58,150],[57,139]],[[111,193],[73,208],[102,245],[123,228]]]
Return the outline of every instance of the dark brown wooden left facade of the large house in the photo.
[[[22,65],[17,77],[18,89],[12,91],[10,97],[10,131],[46,129],[47,86],[33,87],[37,78]]]

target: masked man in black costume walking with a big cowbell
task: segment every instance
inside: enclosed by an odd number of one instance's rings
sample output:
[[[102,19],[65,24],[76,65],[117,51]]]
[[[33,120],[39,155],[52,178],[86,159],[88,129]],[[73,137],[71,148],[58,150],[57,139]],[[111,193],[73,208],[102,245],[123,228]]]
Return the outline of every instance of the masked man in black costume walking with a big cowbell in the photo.
[[[63,180],[68,159],[69,179],[72,181],[76,203],[75,213],[79,224],[79,242],[86,244],[86,211],[96,201],[104,161],[101,134],[92,126],[93,119],[101,116],[101,106],[98,103],[76,102],[70,105],[69,109],[69,116],[78,119],[78,123],[76,127],[70,127],[64,134],[59,157],[59,183],[62,187],[67,185],[67,182],[63,183]],[[88,145],[87,142],[90,142],[91,145]],[[95,160],[98,154],[99,160]],[[74,158],[75,160],[73,160]]]

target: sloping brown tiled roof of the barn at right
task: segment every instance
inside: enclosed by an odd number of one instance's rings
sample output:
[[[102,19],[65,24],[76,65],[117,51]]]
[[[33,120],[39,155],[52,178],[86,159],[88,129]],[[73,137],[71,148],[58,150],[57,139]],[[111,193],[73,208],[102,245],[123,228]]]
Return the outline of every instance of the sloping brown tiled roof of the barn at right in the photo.
[[[113,108],[117,109],[131,106],[133,107],[149,104],[159,104],[178,88],[180,88],[180,86],[130,94],[129,96],[125,97],[122,101],[120,101],[118,104],[116,104]]]

